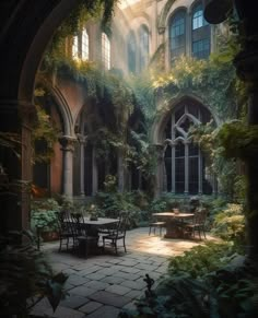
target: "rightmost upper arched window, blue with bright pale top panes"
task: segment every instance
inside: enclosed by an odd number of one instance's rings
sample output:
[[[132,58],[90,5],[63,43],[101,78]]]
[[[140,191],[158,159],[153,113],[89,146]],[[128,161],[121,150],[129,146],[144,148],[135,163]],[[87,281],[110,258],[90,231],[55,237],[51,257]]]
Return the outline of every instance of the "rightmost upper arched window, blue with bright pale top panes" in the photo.
[[[204,20],[202,4],[198,3],[192,10],[191,54],[198,59],[210,55],[210,25]]]

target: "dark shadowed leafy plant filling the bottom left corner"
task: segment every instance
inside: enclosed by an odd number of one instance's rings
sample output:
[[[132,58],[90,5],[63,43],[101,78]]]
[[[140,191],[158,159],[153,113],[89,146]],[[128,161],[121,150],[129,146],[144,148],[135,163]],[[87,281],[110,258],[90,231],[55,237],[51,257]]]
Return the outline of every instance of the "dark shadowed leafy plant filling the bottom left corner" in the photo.
[[[54,274],[46,255],[35,247],[30,232],[10,232],[0,237],[0,307],[4,317],[28,317],[44,297],[56,310],[64,296],[67,276]]]

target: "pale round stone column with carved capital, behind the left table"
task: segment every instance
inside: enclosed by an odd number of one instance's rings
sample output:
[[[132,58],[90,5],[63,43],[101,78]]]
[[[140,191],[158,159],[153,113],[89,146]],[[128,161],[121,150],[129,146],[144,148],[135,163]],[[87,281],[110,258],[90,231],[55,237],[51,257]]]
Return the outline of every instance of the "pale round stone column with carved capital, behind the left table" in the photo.
[[[70,136],[63,136],[59,139],[61,144],[61,151],[63,155],[63,168],[62,168],[62,177],[63,177],[63,195],[68,197],[73,196],[73,151],[74,151],[74,142],[77,140]]]

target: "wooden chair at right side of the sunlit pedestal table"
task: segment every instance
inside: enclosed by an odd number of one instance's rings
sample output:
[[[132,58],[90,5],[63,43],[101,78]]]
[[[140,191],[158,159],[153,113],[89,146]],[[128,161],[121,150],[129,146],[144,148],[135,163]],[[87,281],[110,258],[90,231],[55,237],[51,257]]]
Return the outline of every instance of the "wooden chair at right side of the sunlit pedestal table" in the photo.
[[[206,238],[206,220],[208,211],[204,208],[199,208],[196,210],[195,216],[188,223],[183,223],[181,228],[184,236],[196,237],[196,232],[199,234],[199,239],[201,239],[201,234]]]

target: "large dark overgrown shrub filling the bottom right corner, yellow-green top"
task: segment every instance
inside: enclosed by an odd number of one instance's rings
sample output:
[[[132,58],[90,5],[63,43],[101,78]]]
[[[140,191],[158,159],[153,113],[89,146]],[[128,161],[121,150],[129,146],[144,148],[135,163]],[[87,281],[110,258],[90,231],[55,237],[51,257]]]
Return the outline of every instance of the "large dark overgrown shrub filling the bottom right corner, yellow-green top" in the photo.
[[[243,263],[232,244],[212,243],[172,259],[156,290],[145,292],[136,310],[119,317],[255,318],[257,291],[257,264]]]

